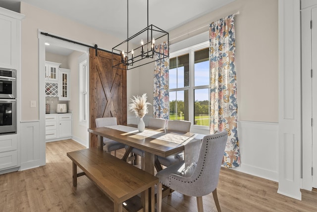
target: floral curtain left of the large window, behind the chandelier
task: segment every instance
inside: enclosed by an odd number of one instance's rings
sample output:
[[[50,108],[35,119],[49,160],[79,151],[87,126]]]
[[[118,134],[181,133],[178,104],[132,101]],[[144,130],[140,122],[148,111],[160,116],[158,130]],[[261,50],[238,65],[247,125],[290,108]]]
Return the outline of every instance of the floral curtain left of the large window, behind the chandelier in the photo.
[[[155,46],[155,51],[168,53],[167,42]],[[169,119],[169,94],[168,94],[168,69],[169,58],[163,58],[161,54],[155,53],[154,64],[154,91],[153,91],[153,114],[156,118]],[[159,60],[158,60],[159,59]]]

